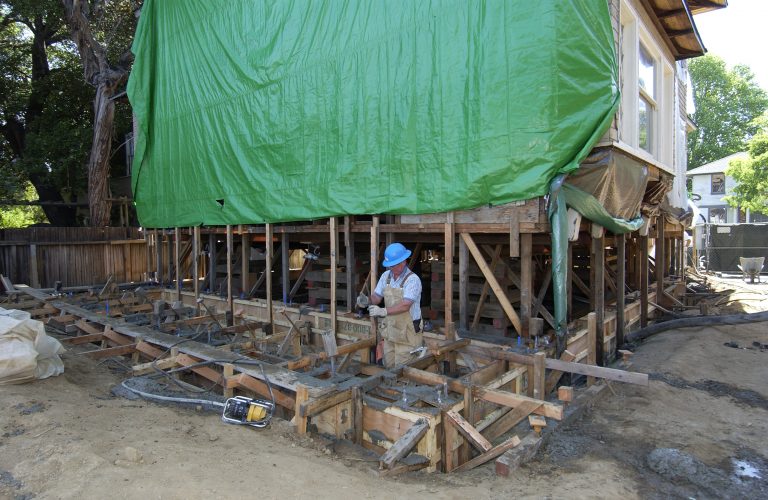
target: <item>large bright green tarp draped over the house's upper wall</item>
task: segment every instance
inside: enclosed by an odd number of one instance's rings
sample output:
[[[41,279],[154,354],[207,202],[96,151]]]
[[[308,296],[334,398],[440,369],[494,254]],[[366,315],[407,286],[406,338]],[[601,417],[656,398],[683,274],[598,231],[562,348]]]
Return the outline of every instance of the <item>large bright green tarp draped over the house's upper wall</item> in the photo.
[[[145,227],[547,193],[618,103],[604,0],[147,0],[128,95]]]

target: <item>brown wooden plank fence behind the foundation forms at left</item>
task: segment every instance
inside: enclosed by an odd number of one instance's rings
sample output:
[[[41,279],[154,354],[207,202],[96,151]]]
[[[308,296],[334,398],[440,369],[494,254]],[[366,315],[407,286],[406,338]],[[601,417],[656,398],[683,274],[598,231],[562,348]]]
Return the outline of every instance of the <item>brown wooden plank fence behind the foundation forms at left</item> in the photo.
[[[147,245],[138,228],[0,230],[0,274],[36,288],[144,281]]]

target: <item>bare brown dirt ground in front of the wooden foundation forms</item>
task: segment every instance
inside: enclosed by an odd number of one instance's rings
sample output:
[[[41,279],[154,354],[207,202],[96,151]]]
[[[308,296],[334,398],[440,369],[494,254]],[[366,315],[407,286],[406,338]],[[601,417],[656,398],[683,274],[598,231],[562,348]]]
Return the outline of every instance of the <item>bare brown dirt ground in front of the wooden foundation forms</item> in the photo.
[[[731,288],[765,304],[768,287]],[[768,344],[768,324],[652,337],[631,367],[649,387],[612,383],[509,478],[493,463],[379,478],[374,457],[284,421],[116,397],[119,365],[73,349],[63,375],[0,387],[0,498],[766,498],[768,350],[753,342]]]

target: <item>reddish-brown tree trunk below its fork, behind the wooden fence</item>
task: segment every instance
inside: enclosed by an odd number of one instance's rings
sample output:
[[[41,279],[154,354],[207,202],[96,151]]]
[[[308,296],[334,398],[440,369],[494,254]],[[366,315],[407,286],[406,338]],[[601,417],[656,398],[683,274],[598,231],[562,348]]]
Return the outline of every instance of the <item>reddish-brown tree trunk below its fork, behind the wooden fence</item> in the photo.
[[[109,201],[109,157],[112,154],[112,125],[115,119],[114,82],[102,82],[96,88],[93,103],[93,144],[88,158],[88,205],[91,226],[109,225],[112,204]]]

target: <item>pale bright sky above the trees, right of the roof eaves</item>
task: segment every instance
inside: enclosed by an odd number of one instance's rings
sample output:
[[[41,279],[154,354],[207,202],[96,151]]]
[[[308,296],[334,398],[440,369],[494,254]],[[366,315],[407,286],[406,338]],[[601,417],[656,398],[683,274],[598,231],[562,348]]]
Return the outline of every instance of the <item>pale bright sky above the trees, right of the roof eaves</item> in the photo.
[[[745,64],[768,91],[768,0],[728,0],[725,9],[694,16],[709,54],[722,57],[729,68]]]

